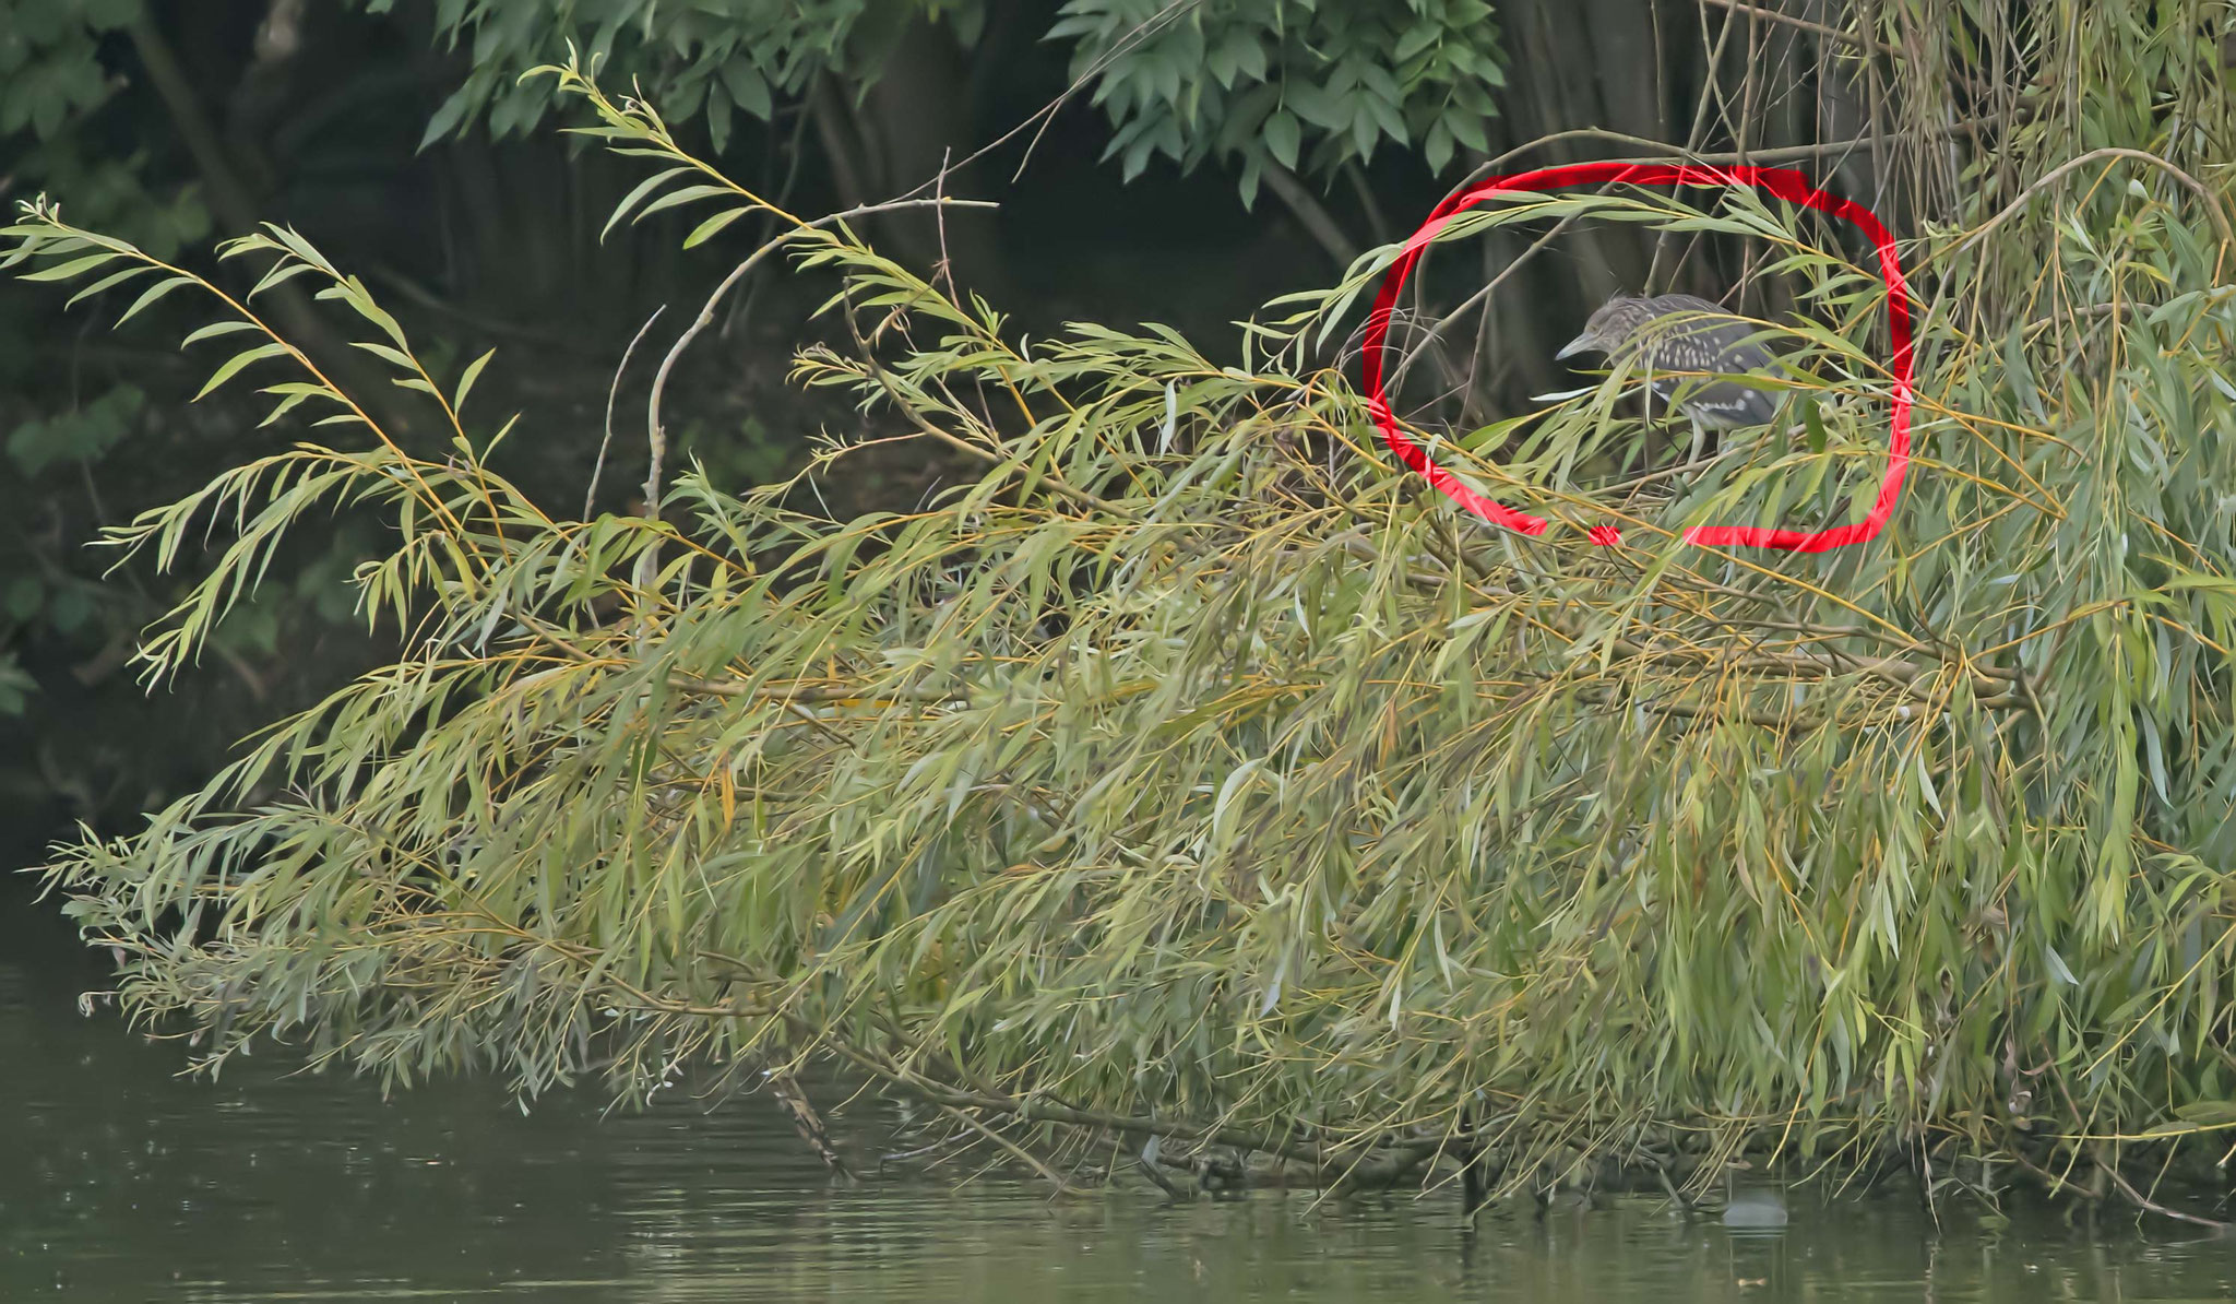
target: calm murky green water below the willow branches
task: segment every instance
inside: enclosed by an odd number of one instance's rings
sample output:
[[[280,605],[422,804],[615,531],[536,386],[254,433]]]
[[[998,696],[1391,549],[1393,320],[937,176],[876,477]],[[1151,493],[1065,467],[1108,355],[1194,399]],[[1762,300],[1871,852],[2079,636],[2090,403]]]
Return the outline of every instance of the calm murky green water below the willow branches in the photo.
[[[382,1100],[80,1018],[101,973],[0,892],[0,1300],[2122,1300],[2227,1297],[2236,1244],[2126,1219],[1939,1232],[1910,1199],[1796,1201],[1780,1230],[1659,1201],[1487,1215],[1304,1194],[1051,1203],[1011,1181],[832,1185],[762,1098],[521,1116],[479,1083]],[[861,1118],[856,1123],[879,1123]]]

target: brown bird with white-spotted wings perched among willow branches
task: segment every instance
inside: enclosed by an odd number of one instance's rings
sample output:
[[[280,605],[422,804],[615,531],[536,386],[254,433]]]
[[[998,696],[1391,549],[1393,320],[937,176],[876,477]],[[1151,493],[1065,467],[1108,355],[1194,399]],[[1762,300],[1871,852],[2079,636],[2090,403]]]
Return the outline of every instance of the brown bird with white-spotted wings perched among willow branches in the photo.
[[[1610,362],[1626,362],[1643,347],[1646,365],[1655,371],[1657,398],[1684,389],[1677,407],[1686,416],[1711,429],[1737,429],[1769,425],[1778,416],[1778,403],[1769,391],[1744,378],[1697,380],[1666,374],[1746,376],[1749,371],[1771,371],[1778,360],[1769,349],[1749,340],[1757,331],[1760,327],[1742,322],[1702,297],[1614,295],[1592,313],[1583,333],[1554,358],[1594,351],[1605,353]]]

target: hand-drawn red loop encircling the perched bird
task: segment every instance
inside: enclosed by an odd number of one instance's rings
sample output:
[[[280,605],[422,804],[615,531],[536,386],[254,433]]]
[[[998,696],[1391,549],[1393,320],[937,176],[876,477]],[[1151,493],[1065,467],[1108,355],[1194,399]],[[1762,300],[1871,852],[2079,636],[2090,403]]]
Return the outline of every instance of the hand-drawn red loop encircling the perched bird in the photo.
[[[1872,239],[1872,246],[1878,251],[1878,275],[1887,282],[1887,333],[1894,340],[1894,423],[1887,438],[1887,476],[1878,483],[1878,503],[1872,505],[1872,514],[1863,521],[1834,526],[1829,530],[1693,526],[1684,532],[1684,541],[1711,548],[1728,544],[1740,548],[1827,552],[1831,548],[1874,539],[1878,530],[1885,528],[1887,517],[1894,514],[1894,503],[1903,497],[1903,472],[1910,467],[1910,286],[1903,282],[1903,264],[1894,253],[1894,237],[1887,235],[1887,228],[1878,221],[1878,217],[1851,199],[1818,190],[1793,168],[1567,163],[1561,168],[1536,168],[1532,172],[1491,177],[1489,181],[1480,181],[1444,199],[1436,206],[1436,212],[1429,215],[1429,221],[1413,233],[1413,239],[1404,244],[1398,262],[1382,273],[1382,291],[1375,295],[1373,313],[1366,318],[1366,351],[1359,365],[1359,380],[1366,389],[1366,412],[1373,416],[1375,427],[1382,429],[1382,441],[1391,445],[1391,452],[1395,452],[1400,461],[1429,476],[1429,483],[1442,490],[1447,499],[1460,503],[1485,521],[1520,530],[1523,535],[1545,532],[1543,517],[1516,512],[1514,508],[1494,503],[1491,499],[1469,490],[1458,481],[1458,476],[1440,467],[1418,443],[1398,429],[1398,418],[1391,414],[1389,398],[1382,391],[1382,344],[1389,336],[1391,306],[1398,302],[1398,291],[1404,289],[1404,277],[1413,273],[1413,264],[1420,262],[1422,248],[1436,239],[1436,233],[1442,230],[1447,221],[1500,190],[1554,190],[1561,186],[1588,186],[1594,181],[1630,186],[1753,186],[1755,190],[1766,190],[1789,204],[1800,204],[1804,208],[1816,208],[1818,212],[1854,221],[1856,228]],[[1592,544],[1605,548],[1621,541],[1621,530],[1614,526],[1592,526],[1590,539]]]

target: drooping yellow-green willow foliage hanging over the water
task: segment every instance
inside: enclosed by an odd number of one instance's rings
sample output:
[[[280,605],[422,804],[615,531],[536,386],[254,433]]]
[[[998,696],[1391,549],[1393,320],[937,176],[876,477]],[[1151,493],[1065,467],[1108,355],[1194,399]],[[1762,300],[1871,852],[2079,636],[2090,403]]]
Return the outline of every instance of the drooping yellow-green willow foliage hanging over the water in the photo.
[[[246,351],[212,382],[347,436],[119,532],[161,564],[233,532],[150,673],[188,673],[291,523],[344,505],[396,528],[358,586],[409,646],[51,881],[123,948],[127,1007],[212,1060],[271,1033],[396,1080],[642,1096],[821,1058],[1035,1163],[1156,1138],[1355,1181],[1462,1154],[1509,1188],[1603,1161],[1708,1188],[1740,1152],[2082,1185],[2209,1163],[2236,1127],[2236,246],[2207,166],[2232,112],[2202,11],[2113,9],[2044,18],[1999,74],[2033,119],[1910,246],[1907,497],[1818,557],[1675,539],[1838,523],[1885,463],[1883,289],[1742,197],[1451,228],[1751,237],[1816,315],[1764,324],[1800,434],[1688,474],[1610,472],[1617,380],[1418,432],[1543,539],[1456,514],[1306,362],[1389,251],[1219,367],[1154,327],[1020,340],[798,224],[852,342],[798,378],[874,432],[803,481],[870,438],[982,479],[834,521],[805,483],[686,472],[684,523],[570,521],[487,467],[481,362],[432,376],[295,235],[228,255],[362,320],[449,450],[389,441],[253,295],[34,206],[11,264],[217,295],[197,338]],[[653,157],[624,210],[760,206],[646,105],[550,74]],[[1626,544],[1590,546],[1608,517]]]

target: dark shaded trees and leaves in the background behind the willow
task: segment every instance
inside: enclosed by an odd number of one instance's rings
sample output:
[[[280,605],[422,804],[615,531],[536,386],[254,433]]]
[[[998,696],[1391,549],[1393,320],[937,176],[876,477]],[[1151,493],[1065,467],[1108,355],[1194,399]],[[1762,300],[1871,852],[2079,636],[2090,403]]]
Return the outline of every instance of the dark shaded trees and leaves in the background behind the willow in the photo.
[[[1469,161],[1547,132],[1760,150],[1872,127],[1863,87],[1829,78],[1820,96],[1771,103],[1742,74],[1764,58],[1825,67],[1838,38],[1695,0],[1073,0],[1060,13],[1020,0],[0,0],[0,199],[51,192],[74,221],[195,266],[255,221],[297,226],[436,358],[492,344],[539,358],[492,378],[537,429],[503,465],[568,501],[590,479],[628,338],[765,228],[698,251],[664,230],[601,244],[637,177],[534,130],[550,87],[517,81],[566,38],[644,78],[693,148],[803,212],[919,188],[1006,136],[946,179],[1002,201],[948,224],[955,275],[1031,333],[1160,320],[1214,358],[1234,349],[1225,322],[1324,284]],[[1717,67],[1742,98],[1699,112]],[[1067,87],[1058,112],[1033,116]],[[1608,148],[1583,134],[1534,159]],[[1885,188],[1869,150],[1827,163],[1851,192]],[[928,219],[874,235],[915,266],[941,257]],[[1520,248],[1494,235],[1485,268]],[[1478,396],[1556,387],[1556,340],[1590,302],[1646,284],[1648,262],[1628,235],[1579,233],[1518,268],[1478,338],[1498,362],[1478,369]],[[1719,293],[1728,271],[1664,257],[1652,275]],[[769,277],[738,295],[675,387],[682,443],[731,485],[796,465],[830,416],[783,385],[809,293]],[[282,302],[282,320],[331,351],[300,302]],[[152,702],[134,684],[132,637],[177,579],[105,577],[85,541],[291,438],[226,396],[188,407],[197,385],[148,333],[110,338],[58,295],[0,300],[0,825],[145,810],[244,727],[378,655],[338,584],[373,539],[342,523],[282,559],[212,649],[212,673]],[[626,418],[637,385],[622,394],[626,467],[642,456]],[[912,452],[861,481],[863,501],[912,501],[939,474]],[[608,474],[599,505],[626,508],[635,479]]]

